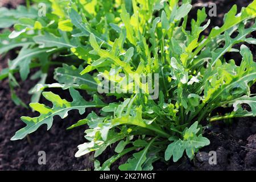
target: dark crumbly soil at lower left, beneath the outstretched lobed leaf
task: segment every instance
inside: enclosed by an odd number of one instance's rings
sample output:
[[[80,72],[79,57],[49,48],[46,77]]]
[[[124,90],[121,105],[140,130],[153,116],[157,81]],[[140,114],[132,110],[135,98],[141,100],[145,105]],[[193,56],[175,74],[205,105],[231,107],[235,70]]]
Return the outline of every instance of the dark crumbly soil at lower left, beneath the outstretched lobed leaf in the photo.
[[[30,101],[27,92],[32,84],[35,83],[23,82],[20,85],[22,89],[16,90],[18,96],[26,104]],[[67,92],[63,93],[68,94]],[[15,131],[24,126],[19,119],[20,116],[31,115],[31,110],[15,106],[11,102],[7,81],[1,82],[0,108],[0,170],[81,170],[92,168],[90,155],[80,159],[74,156],[77,145],[84,142],[85,128],[65,130],[81,118],[78,112],[70,112],[68,119],[61,120],[56,117],[51,130],[47,131],[45,126],[41,127],[29,136],[31,140],[29,143],[27,138],[19,141],[10,140]],[[39,151],[46,152],[46,165],[38,164]]]

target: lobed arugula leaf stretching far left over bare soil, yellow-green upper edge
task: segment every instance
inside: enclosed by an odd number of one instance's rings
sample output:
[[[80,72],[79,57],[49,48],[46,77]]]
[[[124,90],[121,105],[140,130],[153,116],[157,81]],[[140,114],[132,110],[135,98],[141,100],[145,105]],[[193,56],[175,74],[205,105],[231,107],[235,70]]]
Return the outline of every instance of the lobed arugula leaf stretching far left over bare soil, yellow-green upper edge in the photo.
[[[44,92],[43,96],[51,101],[53,107],[48,107],[39,103],[31,103],[30,107],[40,113],[39,117],[30,118],[22,117],[22,121],[26,123],[26,127],[17,131],[11,140],[18,140],[26,137],[27,134],[30,134],[36,131],[40,126],[46,124],[47,130],[49,130],[53,123],[53,116],[59,115],[61,118],[68,116],[68,111],[77,109],[80,114],[85,113],[85,109],[88,107],[104,107],[105,104],[98,99],[97,96],[94,96],[92,102],[85,101],[75,89],[69,89],[69,92],[73,98],[72,102],[62,100],[58,95],[53,94],[52,92]]]

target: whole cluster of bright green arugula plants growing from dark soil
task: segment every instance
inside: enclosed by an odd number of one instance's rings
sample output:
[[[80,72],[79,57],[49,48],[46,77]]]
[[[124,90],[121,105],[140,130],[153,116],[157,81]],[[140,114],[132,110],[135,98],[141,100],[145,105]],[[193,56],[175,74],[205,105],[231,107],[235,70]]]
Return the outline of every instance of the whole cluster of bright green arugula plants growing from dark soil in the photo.
[[[39,3],[45,3],[46,16],[38,16]],[[197,11],[188,22],[191,1],[183,0],[44,0],[34,1],[16,10],[0,8],[0,28],[14,25],[0,34],[0,54],[22,47],[9,68],[0,73],[0,80],[9,79],[11,96],[17,105],[26,106],[15,94],[19,86],[14,74],[26,80],[31,69],[39,68],[31,79],[39,79],[30,90],[30,107],[39,117],[22,117],[26,127],[11,140],[18,140],[46,124],[49,130],[53,117],[68,116],[69,110],[92,111],[77,126],[87,125],[87,142],[78,146],[76,157],[94,151],[94,157],[117,143],[110,159],[96,170],[107,170],[126,154],[133,154],[121,170],[151,170],[156,160],[177,162],[185,153],[192,159],[209,140],[203,137],[199,123],[256,115],[256,96],[250,86],[256,81],[256,63],[250,49],[238,43],[256,44],[250,38],[256,30],[251,24],[256,16],[256,1],[237,14],[234,5],[225,15],[224,24],[213,28],[208,36],[201,33],[209,26],[205,9]],[[189,26],[188,26],[189,25]],[[189,27],[191,27],[189,29]],[[222,46],[220,46],[222,44]],[[226,52],[239,52],[240,65],[225,60]],[[59,57],[56,61],[56,57]],[[81,61],[82,60],[82,61]],[[50,67],[55,69],[55,83],[46,84]],[[159,98],[149,100],[148,93],[111,93],[118,101],[106,104],[97,93],[98,75],[112,80],[118,73],[159,74]],[[72,102],[46,88],[69,89]],[[129,89],[129,85],[126,86]],[[78,90],[86,90],[92,100],[86,101]],[[52,107],[39,104],[41,94]],[[249,110],[242,105],[250,106]],[[233,107],[225,115],[213,115],[218,107]],[[72,119],[72,118],[71,118]],[[77,123],[76,123],[77,122]]]

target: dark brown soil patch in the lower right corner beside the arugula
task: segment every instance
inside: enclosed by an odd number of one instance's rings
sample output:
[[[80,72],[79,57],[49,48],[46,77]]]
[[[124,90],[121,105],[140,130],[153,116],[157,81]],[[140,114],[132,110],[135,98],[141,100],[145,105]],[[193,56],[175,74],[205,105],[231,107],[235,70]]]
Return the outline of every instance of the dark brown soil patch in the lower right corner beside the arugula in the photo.
[[[164,165],[155,164],[156,169],[167,170],[256,170],[256,119],[236,119],[231,125],[223,122],[215,123],[204,134],[210,140],[210,145],[196,154],[189,161],[183,158],[177,163]],[[209,152],[217,154],[217,164],[209,164]]]

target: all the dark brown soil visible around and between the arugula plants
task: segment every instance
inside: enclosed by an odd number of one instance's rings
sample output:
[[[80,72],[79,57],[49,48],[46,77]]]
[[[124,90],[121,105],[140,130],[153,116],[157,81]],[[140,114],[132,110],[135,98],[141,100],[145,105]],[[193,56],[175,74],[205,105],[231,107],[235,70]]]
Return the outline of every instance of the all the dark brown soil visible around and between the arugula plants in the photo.
[[[13,1],[0,1],[0,4],[11,7]],[[20,1],[21,2],[21,1]],[[196,10],[207,6],[209,1],[192,1],[195,5],[192,10],[192,18],[195,18]],[[214,1],[217,4],[218,17],[210,18],[211,27],[221,26],[222,17],[232,5],[237,4],[238,10],[242,6],[247,6],[251,1]],[[13,5],[16,6],[16,5]],[[207,32],[205,32],[207,34]],[[252,35],[252,36],[255,36]],[[250,46],[254,56],[256,55],[255,47]],[[4,57],[0,56],[0,71],[7,66],[7,59],[15,57],[15,51],[11,51]],[[233,55],[227,55],[227,59],[232,59]],[[236,60],[238,59],[235,57]],[[53,68],[51,69],[52,74]],[[32,71],[35,72],[35,71]],[[51,75],[50,74],[50,75]],[[15,75],[20,83],[20,88],[16,93],[22,100],[29,104],[30,95],[28,90],[36,83],[35,81],[20,81],[19,76]],[[53,80],[49,77],[48,83]],[[70,101],[67,91],[52,89],[52,92],[60,94],[61,97]],[[253,86],[253,93],[256,93]],[[86,93],[82,93],[86,100],[89,99]],[[48,104],[46,100],[40,102]],[[28,138],[18,141],[11,141],[15,131],[24,126],[20,121],[22,115],[35,116],[30,109],[15,106],[11,101],[8,80],[0,81],[0,170],[92,170],[93,154],[75,158],[77,145],[84,143],[85,127],[78,127],[73,130],[65,130],[73,123],[85,118],[90,113],[87,110],[84,115],[79,115],[77,111],[70,111],[69,117],[61,120],[59,117],[54,118],[52,128],[47,131],[46,126],[40,127],[35,133],[30,134]],[[31,114],[32,113],[32,114]],[[210,146],[204,147],[196,155],[195,159],[189,161],[183,158],[178,163],[156,162],[156,170],[256,170],[256,119],[240,118],[234,119],[231,124],[224,122],[213,123],[205,130],[205,137],[209,138]],[[38,152],[46,152],[46,165],[38,164]],[[215,151],[217,154],[217,164],[210,165],[209,151]],[[109,158],[113,151],[109,150],[101,156],[100,160]],[[112,169],[118,168],[118,163],[123,163],[127,156],[116,162]]]

